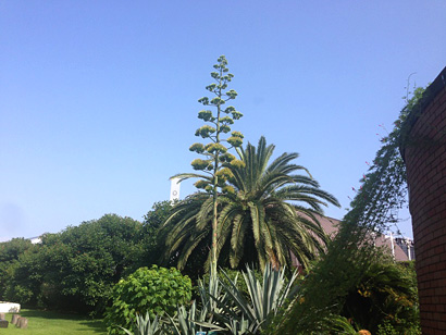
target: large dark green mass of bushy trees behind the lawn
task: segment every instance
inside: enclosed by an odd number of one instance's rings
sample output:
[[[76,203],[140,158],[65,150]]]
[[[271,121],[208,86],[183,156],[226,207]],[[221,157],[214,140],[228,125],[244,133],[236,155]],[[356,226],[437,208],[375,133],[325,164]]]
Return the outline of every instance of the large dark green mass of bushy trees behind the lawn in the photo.
[[[141,228],[133,219],[107,214],[45,235],[9,268],[7,298],[25,306],[101,313],[112,286],[140,255]]]

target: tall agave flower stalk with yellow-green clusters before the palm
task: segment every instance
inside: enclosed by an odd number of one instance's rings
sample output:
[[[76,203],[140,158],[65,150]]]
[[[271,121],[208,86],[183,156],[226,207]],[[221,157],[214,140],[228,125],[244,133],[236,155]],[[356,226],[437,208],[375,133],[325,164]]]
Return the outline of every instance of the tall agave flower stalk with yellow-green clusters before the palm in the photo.
[[[232,166],[240,166],[243,163],[236,160],[235,157],[227,152],[231,148],[240,147],[243,144],[243,135],[239,132],[232,132],[231,136],[226,139],[223,138],[224,134],[231,132],[231,125],[234,124],[234,120],[239,120],[243,114],[233,106],[223,108],[223,106],[237,97],[237,92],[234,89],[226,90],[227,84],[234,77],[226,67],[227,61],[224,55],[218,59],[218,63],[213,65],[214,72],[211,72],[211,77],[215,80],[206,87],[211,94],[214,95],[212,99],[203,97],[198,100],[205,107],[213,107],[215,113],[211,110],[201,110],[198,113],[198,119],[205,121],[206,124],[197,129],[196,136],[200,136],[203,139],[209,140],[203,145],[200,142],[190,146],[189,150],[195,151],[205,159],[195,159],[191,162],[193,169],[200,171],[201,173],[182,173],[173,176],[172,178],[179,178],[179,181],[197,177],[199,181],[195,186],[199,189],[205,189],[208,194],[212,195],[212,245],[211,245],[211,274],[216,273],[216,246],[218,246],[218,202],[219,194],[226,193],[226,184],[228,174],[227,169],[222,169],[223,163],[228,163]],[[232,116],[230,116],[232,115]],[[225,146],[226,142],[228,146]],[[210,203],[209,203],[210,204]]]

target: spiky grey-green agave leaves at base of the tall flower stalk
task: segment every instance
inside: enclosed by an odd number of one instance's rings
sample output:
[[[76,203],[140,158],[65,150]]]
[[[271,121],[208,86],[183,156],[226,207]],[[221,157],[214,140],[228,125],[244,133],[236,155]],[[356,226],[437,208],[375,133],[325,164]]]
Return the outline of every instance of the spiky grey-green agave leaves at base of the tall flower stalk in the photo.
[[[200,281],[200,305],[194,300],[188,307],[178,306],[175,314],[166,315],[166,334],[194,335],[198,331],[260,334],[297,293],[297,274],[287,281],[284,269],[275,271],[270,264],[265,266],[262,283],[249,268],[243,273],[248,297],[238,288],[238,276],[232,280],[224,271],[221,274],[224,280],[210,275],[208,285]]]

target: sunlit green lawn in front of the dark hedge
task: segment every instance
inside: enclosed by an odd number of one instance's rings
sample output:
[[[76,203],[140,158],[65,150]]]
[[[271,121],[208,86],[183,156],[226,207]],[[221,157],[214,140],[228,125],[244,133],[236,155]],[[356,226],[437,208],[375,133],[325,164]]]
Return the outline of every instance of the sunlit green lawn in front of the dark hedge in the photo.
[[[76,314],[62,314],[38,310],[21,311],[21,317],[28,319],[26,330],[16,328],[14,324],[9,324],[8,328],[0,328],[3,334],[27,334],[27,335],[99,335],[107,334],[106,326],[101,320],[91,320]],[[7,314],[7,320],[11,322],[12,314]]]

